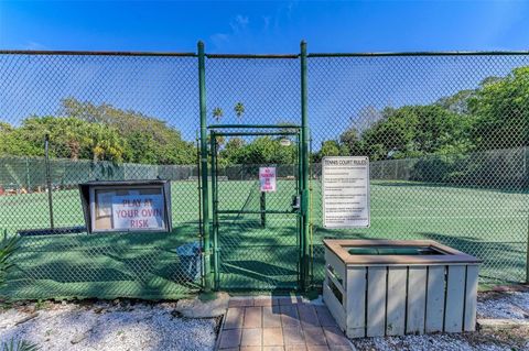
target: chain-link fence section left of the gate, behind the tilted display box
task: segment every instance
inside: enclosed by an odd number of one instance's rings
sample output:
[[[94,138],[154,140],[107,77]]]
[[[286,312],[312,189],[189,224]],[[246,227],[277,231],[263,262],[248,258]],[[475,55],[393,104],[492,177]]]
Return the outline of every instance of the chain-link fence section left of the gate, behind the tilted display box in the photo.
[[[201,288],[197,69],[193,54],[0,55],[0,228],[47,229],[22,237],[6,294],[175,298]],[[78,183],[158,177],[172,180],[172,232],[84,231]]]

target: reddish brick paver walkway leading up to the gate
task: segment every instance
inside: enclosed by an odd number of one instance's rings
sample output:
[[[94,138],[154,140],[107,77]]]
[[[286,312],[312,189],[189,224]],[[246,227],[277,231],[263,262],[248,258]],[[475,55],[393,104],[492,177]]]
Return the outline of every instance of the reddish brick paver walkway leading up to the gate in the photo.
[[[300,297],[231,298],[219,350],[353,350],[323,305]]]

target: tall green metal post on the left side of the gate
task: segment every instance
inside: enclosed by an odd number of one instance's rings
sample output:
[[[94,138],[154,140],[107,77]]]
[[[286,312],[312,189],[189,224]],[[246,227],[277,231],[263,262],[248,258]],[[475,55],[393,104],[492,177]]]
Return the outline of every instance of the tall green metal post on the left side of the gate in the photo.
[[[209,240],[209,191],[207,183],[206,62],[204,43],[198,42],[198,97],[201,109],[202,229],[204,238],[204,292],[212,292],[212,244]]]

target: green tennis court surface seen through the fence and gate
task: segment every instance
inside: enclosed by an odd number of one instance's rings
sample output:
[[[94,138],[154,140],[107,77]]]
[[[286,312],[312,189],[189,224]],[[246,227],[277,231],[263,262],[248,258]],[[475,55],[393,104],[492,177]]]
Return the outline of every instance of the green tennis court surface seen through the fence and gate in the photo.
[[[219,183],[219,208],[259,210],[258,182]],[[371,180],[371,227],[322,228],[321,186],[312,180],[314,282],[323,279],[323,238],[433,239],[482,260],[482,281],[521,282],[526,274],[528,194],[411,182]],[[267,209],[290,210],[293,180],[279,180]],[[76,189],[53,193],[56,227],[83,226]],[[196,182],[172,182],[171,233],[25,237],[8,295],[15,298],[176,298],[196,292],[196,262],[176,249],[198,242]],[[48,226],[47,194],[0,197],[8,233]],[[269,289],[295,283],[295,215],[230,213],[219,219],[220,287]],[[198,262],[198,261],[197,261]],[[199,262],[198,262],[199,263]],[[190,273],[191,272],[191,273]]]

